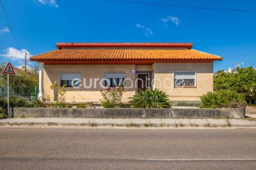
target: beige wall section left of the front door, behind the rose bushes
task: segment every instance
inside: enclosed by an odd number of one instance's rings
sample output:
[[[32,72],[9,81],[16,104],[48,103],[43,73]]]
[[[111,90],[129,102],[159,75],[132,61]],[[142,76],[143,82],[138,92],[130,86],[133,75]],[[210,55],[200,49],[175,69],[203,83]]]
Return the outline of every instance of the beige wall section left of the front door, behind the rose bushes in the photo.
[[[124,64],[124,65],[112,65],[112,64],[45,64],[43,70],[43,97],[48,101],[53,101],[53,90],[50,89],[50,85],[57,81],[60,85],[60,74],[61,73],[80,73],[81,78],[85,79],[85,84],[90,85],[90,79],[97,78],[98,81],[92,83],[91,89],[85,89],[82,85],[80,89],[73,89],[72,87],[65,88],[65,101],[100,101],[101,90],[104,90],[100,86],[100,79],[105,78],[105,73],[124,73],[125,78],[132,79],[134,82],[136,77],[132,74],[132,69],[135,69],[134,64]],[[84,81],[82,80],[82,84]],[[103,84],[104,85],[104,84]],[[131,81],[125,82],[126,86],[131,86]],[[127,89],[124,93],[124,102],[129,101],[128,97],[135,94],[135,88]]]

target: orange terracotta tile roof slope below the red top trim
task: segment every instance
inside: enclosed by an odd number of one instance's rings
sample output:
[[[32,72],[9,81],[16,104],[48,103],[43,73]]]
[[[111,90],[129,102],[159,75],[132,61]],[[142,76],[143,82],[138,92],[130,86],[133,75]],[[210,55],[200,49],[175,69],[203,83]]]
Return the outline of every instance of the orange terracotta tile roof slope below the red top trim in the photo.
[[[88,49],[88,50],[53,50],[31,57],[31,61],[65,60],[65,61],[97,61],[97,60],[221,60],[198,50],[174,49]]]

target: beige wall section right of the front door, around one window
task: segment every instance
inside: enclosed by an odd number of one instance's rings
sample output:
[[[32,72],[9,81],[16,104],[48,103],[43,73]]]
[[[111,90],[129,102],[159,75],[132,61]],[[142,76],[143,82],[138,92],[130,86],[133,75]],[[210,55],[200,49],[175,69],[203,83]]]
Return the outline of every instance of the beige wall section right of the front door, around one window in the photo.
[[[154,63],[153,69],[154,88],[166,91],[171,101],[200,101],[213,91],[213,62]],[[174,87],[174,72],[196,72],[196,87]]]

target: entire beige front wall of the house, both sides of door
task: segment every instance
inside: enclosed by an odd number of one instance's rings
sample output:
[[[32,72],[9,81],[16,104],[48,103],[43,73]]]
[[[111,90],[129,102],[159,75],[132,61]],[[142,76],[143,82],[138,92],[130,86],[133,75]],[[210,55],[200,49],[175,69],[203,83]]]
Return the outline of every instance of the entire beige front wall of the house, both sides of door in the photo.
[[[90,79],[97,78],[98,81],[92,83],[91,89],[82,86],[80,89],[66,88],[65,101],[96,101],[101,98],[100,91],[104,90],[100,87],[99,80],[105,77],[105,73],[124,73],[126,79],[125,86],[133,86],[132,89],[126,89],[124,93],[124,102],[129,101],[128,97],[133,96],[137,89],[135,88],[135,80],[137,74],[132,74],[132,70],[149,71],[153,70],[154,87],[166,91],[171,101],[200,101],[199,96],[213,91],[213,62],[204,63],[155,63],[153,65],[134,65],[134,64],[45,64],[43,69],[43,97],[47,101],[53,101],[53,90],[50,85],[57,81],[60,85],[61,73],[80,73],[81,78],[86,80],[89,86]],[[196,87],[175,88],[174,72],[196,72]],[[165,80],[166,79],[166,80]],[[84,81],[82,80],[82,85]],[[161,84],[161,86],[160,86]],[[167,88],[163,86],[165,84]]]

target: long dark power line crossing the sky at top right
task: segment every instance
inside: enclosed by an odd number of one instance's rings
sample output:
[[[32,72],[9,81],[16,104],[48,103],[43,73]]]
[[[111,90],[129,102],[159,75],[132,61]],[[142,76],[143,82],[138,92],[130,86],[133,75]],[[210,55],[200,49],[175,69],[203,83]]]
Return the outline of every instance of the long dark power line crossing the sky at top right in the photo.
[[[171,6],[171,7],[177,7],[177,8],[198,8],[198,9],[218,10],[218,11],[238,11],[238,12],[252,12],[252,13],[256,13],[256,11],[243,10],[243,9],[231,9],[231,8],[208,8],[208,7],[201,7],[201,6],[180,6],[180,5],[174,5],[174,4],[155,4],[155,3],[148,3],[148,2],[122,1],[122,0],[105,0],[105,1],[121,2],[121,3],[127,3],[127,4],[143,4],[143,5],[154,5],[154,6]]]

